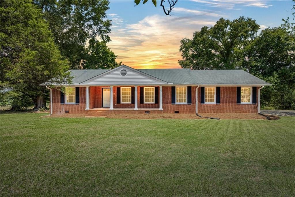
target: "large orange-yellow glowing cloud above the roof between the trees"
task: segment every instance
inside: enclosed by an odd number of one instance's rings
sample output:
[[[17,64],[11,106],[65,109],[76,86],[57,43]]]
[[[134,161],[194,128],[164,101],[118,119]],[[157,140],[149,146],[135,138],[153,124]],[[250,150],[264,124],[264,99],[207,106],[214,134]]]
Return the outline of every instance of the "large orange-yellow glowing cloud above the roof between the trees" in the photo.
[[[115,17],[118,21],[119,16]],[[214,24],[214,20],[196,16],[148,16],[135,24],[112,28],[108,46],[118,56],[117,62],[134,68],[181,68],[178,64],[182,59],[181,39],[191,38],[202,26]]]

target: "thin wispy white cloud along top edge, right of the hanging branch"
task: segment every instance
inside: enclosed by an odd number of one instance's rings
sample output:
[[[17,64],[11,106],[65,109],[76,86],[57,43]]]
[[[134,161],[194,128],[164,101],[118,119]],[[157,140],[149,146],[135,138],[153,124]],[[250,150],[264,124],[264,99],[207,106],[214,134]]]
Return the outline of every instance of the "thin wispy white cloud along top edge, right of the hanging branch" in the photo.
[[[210,7],[233,9],[236,5],[268,8],[272,6],[266,0],[191,0]]]

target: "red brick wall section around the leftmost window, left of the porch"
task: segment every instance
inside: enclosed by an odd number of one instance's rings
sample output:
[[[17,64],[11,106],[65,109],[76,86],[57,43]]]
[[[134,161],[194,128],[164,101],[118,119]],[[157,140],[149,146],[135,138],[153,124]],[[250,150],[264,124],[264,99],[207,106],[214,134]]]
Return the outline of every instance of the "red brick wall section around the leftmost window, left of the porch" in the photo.
[[[60,90],[52,89],[52,105],[53,114],[64,114],[69,111],[69,114],[86,114],[86,87],[79,88],[79,104],[60,104]]]

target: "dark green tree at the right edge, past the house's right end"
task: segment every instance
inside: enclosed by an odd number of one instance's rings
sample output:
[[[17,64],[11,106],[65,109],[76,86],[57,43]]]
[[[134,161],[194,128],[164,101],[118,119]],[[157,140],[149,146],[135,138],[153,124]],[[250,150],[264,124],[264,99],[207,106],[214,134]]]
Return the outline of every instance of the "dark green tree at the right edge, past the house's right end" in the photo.
[[[262,105],[295,109],[295,39],[289,29],[262,30],[238,56],[242,69],[272,84],[262,91]]]

